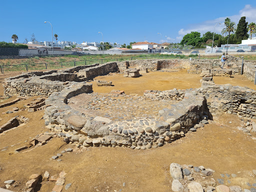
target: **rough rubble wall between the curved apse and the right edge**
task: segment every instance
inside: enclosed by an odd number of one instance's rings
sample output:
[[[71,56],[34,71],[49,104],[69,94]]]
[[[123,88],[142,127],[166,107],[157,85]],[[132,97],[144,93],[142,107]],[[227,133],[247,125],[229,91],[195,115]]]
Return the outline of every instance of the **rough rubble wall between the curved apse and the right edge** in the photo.
[[[195,89],[204,95],[210,112],[237,114],[241,119],[256,119],[256,91],[231,84],[204,86]]]

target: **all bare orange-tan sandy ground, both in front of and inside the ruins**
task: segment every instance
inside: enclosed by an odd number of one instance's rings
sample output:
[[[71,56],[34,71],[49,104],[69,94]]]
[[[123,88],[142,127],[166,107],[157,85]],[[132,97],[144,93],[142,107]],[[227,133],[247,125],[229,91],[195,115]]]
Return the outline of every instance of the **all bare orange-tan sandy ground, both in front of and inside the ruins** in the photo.
[[[246,80],[245,77],[233,76],[213,79],[215,83],[254,87],[253,82]],[[96,79],[112,80],[114,86],[96,87],[93,82],[93,90],[109,92],[110,89],[122,89],[126,93],[142,94],[141,89],[167,90],[174,87],[183,89],[200,86],[199,75],[187,74],[185,71],[146,73],[136,79],[126,78],[126,81],[123,78],[121,74],[97,77]],[[2,80],[0,76],[0,81]],[[2,92],[0,86],[0,95]],[[19,185],[11,189],[22,191],[32,173],[43,174],[47,170],[53,175],[64,170],[67,173],[65,184],[72,183],[67,191],[171,191],[171,162],[211,168],[215,170],[215,180],[220,178],[220,173],[237,174],[237,177],[229,179],[230,184],[224,178],[226,185],[249,188],[245,182],[256,182],[255,177],[250,176],[251,170],[256,169],[256,140],[236,129],[237,126],[241,126],[241,121],[236,115],[228,114],[214,116],[211,124],[159,148],[132,150],[120,147],[89,147],[83,152],[63,153],[60,157],[62,161],[57,162],[50,160],[50,157],[68,147],[74,151],[77,149],[71,144],[66,144],[63,138],[54,137],[45,145],[33,150],[28,148],[14,153],[14,149],[25,145],[29,139],[48,131],[42,119],[43,111],[2,114],[12,107],[22,108],[33,98],[35,97],[0,108],[0,125],[15,115],[29,118],[25,125],[0,135],[0,187],[4,186],[4,180],[14,179]],[[1,151],[3,148],[6,150]],[[48,192],[53,186],[54,181],[42,181],[36,186],[35,191]]]

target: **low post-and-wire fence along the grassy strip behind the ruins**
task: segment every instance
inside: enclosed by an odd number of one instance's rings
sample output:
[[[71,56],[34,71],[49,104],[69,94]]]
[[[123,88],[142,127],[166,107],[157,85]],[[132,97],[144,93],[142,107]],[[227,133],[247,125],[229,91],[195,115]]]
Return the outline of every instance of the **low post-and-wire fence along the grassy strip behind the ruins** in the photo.
[[[42,70],[42,69],[57,69],[57,68],[67,68],[72,66],[81,65],[91,65],[95,63],[106,63],[114,61],[124,61],[124,60],[140,60],[140,59],[151,59],[151,58],[180,58],[179,56],[148,56],[148,57],[126,57],[126,58],[102,58],[102,59],[85,59],[73,61],[58,61],[58,62],[43,62],[43,63],[25,63],[25,64],[10,64],[10,65],[0,65],[0,71],[4,72],[11,71],[28,71],[28,70]]]

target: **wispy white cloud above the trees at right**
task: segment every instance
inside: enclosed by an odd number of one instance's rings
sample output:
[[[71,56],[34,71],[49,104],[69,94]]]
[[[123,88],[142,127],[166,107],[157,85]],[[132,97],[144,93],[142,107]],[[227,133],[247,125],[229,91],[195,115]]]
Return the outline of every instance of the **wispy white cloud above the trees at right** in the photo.
[[[197,32],[200,32],[201,34],[207,31],[213,32],[214,25],[219,22],[221,24],[216,24],[215,32],[221,33],[221,30],[224,27],[224,19],[226,17],[229,17],[231,21],[234,21],[237,24],[241,16],[246,16],[246,22],[250,23],[250,22],[255,22],[256,20],[255,13],[256,13],[256,7],[252,7],[250,4],[246,4],[244,8],[239,11],[239,14],[229,15],[225,17],[218,17],[213,20],[206,20],[202,23],[193,24],[193,27],[188,27],[185,29],[181,28],[178,31],[178,34],[184,36],[185,34],[190,33],[191,31],[197,31]]]

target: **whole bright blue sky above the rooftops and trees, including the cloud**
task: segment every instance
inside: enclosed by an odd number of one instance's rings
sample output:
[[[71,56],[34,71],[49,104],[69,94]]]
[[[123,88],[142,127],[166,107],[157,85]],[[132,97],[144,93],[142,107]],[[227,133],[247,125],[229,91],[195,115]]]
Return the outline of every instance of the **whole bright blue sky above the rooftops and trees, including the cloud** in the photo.
[[[256,22],[256,0],[0,0],[0,41],[58,40],[179,42],[190,31],[213,31],[214,24],[241,16]],[[216,25],[220,33],[223,24]],[[161,35],[157,33],[161,33]],[[167,38],[165,37],[167,36]]]

